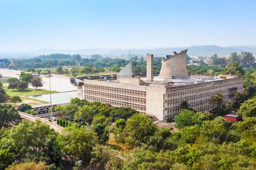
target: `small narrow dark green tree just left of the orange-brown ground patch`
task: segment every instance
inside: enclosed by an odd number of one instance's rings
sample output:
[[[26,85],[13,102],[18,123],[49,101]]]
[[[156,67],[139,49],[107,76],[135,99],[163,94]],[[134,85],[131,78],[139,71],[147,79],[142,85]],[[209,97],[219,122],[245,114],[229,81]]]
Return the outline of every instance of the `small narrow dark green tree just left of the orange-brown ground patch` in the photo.
[[[105,145],[109,139],[108,130],[101,123],[94,125],[92,130],[97,133],[99,144]]]

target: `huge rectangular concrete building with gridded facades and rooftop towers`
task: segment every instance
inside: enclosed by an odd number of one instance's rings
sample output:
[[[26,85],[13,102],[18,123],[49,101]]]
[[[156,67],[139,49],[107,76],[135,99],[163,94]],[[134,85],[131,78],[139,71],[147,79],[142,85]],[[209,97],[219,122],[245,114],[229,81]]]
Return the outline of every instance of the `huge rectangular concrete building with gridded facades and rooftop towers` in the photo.
[[[70,82],[77,87],[77,97],[88,102],[130,107],[165,122],[173,120],[185,100],[201,112],[213,109],[209,98],[216,92],[222,93],[224,104],[226,100],[235,102],[235,93],[243,90],[243,77],[189,76],[186,52],[174,52],[175,55],[163,58],[159,76],[153,74],[153,55],[147,54],[146,77],[145,74],[131,75],[132,64],[128,64],[130,68],[123,69],[118,76],[70,78]]]

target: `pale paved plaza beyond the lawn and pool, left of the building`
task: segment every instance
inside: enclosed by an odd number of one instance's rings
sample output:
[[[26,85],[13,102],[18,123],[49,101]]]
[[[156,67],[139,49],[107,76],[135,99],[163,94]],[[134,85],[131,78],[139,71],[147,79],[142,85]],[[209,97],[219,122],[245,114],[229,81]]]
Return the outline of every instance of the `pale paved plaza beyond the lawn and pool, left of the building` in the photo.
[[[1,68],[0,73],[6,77],[17,77],[19,78],[18,73],[20,71],[17,70],[9,70],[6,68]],[[65,91],[76,91],[76,86],[73,86],[70,83],[70,77],[65,75],[54,75],[51,78],[46,78],[45,75],[40,75],[43,78],[43,87],[39,87],[38,89],[50,90],[51,82],[51,91],[57,92],[65,92]],[[31,84],[29,84],[29,88],[33,88]]]

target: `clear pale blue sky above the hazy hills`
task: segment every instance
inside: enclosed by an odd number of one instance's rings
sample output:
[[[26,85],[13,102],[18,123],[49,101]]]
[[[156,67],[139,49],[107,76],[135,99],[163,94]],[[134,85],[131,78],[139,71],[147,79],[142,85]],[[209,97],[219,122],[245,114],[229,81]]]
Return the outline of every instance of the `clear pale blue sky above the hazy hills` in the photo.
[[[256,45],[255,0],[0,0],[0,52]]]

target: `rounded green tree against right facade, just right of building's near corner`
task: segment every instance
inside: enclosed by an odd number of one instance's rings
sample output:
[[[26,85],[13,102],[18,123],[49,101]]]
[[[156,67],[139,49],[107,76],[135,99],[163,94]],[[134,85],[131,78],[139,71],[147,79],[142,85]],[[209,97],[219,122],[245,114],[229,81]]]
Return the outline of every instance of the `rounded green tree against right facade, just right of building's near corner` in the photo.
[[[202,118],[200,114],[191,110],[181,109],[178,115],[175,115],[175,128],[182,129],[186,126],[201,125]]]

